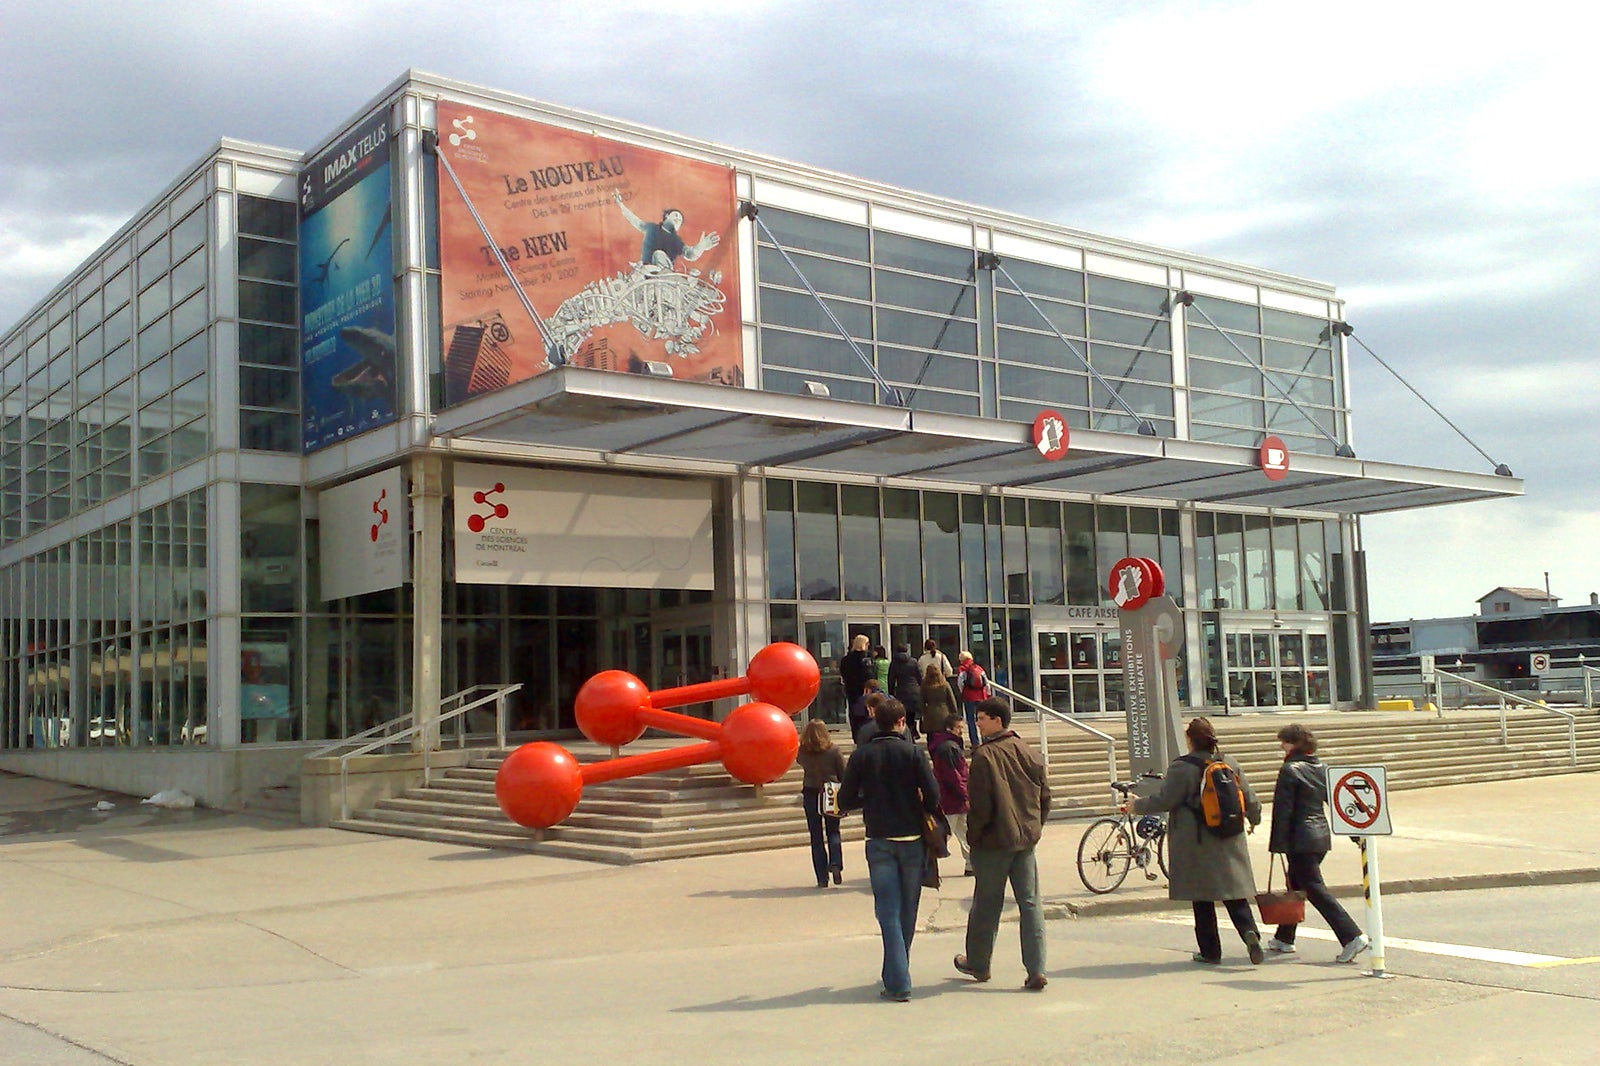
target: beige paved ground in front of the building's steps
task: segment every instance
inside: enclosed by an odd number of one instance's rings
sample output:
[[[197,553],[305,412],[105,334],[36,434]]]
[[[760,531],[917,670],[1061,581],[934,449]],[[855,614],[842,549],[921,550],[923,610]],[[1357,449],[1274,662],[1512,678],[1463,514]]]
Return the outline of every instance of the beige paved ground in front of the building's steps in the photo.
[[[91,810],[101,799],[115,808]],[[1600,882],[1600,775],[1397,792],[1392,813],[1392,898]],[[1392,981],[1315,940],[1294,960],[1198,972],[1160,884],[1088,896],[1080,831],[1051,824],[1040,845],[1050,989],[1018,989],[1014,928],[990,984],[949,968],[970,882],[947,877],[923,903],[914,1000],[893,1005],[875,994],[859,845],[845,887],[818,890],[805,850],[595,866],[0,775],[0,1060],[1246,1063],[1309,1042],[1411,1064],[1592,1061],[1592,999],[1411,976],[1402,952]],[[1355,847],[1325,869],[1357,885]],[[1219,1039],[1197,1048],[1202,1031]]]

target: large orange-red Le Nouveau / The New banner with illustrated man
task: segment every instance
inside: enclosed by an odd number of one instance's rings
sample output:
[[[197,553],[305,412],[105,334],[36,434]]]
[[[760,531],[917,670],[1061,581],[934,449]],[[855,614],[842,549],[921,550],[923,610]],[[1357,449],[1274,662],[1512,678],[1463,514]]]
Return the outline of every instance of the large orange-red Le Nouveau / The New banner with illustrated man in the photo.
[[[451,102],[438,152],[446,403],[562,363],[744,383],[731,168]]]

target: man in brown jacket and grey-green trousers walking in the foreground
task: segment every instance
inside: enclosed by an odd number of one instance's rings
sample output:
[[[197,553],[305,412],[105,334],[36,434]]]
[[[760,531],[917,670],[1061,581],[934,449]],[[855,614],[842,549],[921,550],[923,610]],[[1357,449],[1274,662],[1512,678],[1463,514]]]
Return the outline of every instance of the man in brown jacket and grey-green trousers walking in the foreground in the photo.
[[[1027,741],[1011,731],[1011,704],[989,698],[978,704],[978,731],[966,778],[966,840],[973,850],[973,909],[966,916],[966,954],[955,968],[974,981],[989,980],[1005,885],[1011,882],[1022,930],[1022,988],[1038,992],[1045,980],[1045,916],[1038,906],[1038,844],[1050,816],[1045,765]]]

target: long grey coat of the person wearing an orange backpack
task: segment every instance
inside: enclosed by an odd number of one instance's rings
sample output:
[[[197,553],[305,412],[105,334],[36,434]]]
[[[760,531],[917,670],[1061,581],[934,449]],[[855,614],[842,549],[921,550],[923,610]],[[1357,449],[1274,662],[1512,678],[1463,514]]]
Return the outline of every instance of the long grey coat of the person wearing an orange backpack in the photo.
[[[1222,762],[1238,771],[1238,763],[1221,755]],[[1238,771],[1245,786],[1245,818],[1251,826],[1261,824],[1261,800],[1250,781]],[[1178,759],[1166,767],[1162,791],[1133,802],[1138,815],[1171,812],[1166,820],[1166,868],[1171,877],[1166,884],[1170,900],[1250,900],[1256,895],[1256,874],[1250,868],[1250,845],[1245,834],[1216,837],[1200,824],[1195,805],[1200,802],[1200,767]]]

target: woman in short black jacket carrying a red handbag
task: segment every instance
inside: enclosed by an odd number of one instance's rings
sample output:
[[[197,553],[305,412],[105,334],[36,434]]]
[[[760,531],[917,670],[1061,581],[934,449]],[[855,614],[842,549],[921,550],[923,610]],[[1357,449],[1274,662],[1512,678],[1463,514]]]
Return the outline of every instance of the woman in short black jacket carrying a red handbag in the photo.
[[[1322,860],[1333,850],[1333,831],[1325,813],[1328,773],[1317,759],[1317,738],[1304,725],[1285,725],[1278,730],[1278,744],[1283,746],[1283,765],[1278,767],[1278,779],[1272,787],[1272,837],[1267,852],[1285,856],[1288,887],[1304,892],[1339,938],[1334,962],[1355,962],[1355,956],[1368,948],[1366,935],[1322,879]],[[1294,925],[1280,925],[1267,941],[1267,951],[1293,954],[1294,930]]]

